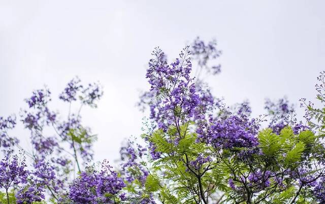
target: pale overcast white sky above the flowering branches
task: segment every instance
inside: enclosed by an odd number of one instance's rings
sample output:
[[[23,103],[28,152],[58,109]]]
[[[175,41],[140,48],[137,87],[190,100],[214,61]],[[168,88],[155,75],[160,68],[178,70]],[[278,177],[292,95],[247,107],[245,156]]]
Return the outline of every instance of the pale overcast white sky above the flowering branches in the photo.
[[[142,132],[135,104],[152,49],[174,59],[197,36],[223,51],[222,72],[209,79],[215,96],[249,99],[255,115],[267,97],[299,106],[325,69],[324,9],[325,1],[0,0],[0,114],[19,119],[23,99],[44,84],[51,107],[67,111],[56,96],[71,78],[100,81],[104,97],[83,109],[83,122],[99,136],[95,160],[114,161],[122,140]],[[28,140],[21,127],[11,133]]]

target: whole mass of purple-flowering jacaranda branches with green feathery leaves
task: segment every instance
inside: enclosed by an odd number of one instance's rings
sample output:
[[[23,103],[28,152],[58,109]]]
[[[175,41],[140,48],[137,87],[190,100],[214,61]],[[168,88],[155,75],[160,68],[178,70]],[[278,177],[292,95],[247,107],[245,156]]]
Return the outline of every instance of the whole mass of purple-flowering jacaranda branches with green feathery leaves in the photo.
[[[325,203],[324,108],[301,99],[301,122],[285,98],[267,100],[258,118],[246,101],[224,104],[202,79],[220,72],[220,54],[215,41],[199,38],[172,63],[154,49],[150,89],[138,104],[149,119],[121,148],[115,170],[92,164],[96,137],[81,123],[81,108],[103,95],[98,83],[68,83],[59,95],[70,107],[66,120],[50,110],[47,88],[34,91],[20,113],[31,152],[10,136],[15,117],[0,118],[0,203]],[[325,72],[317,79],[323,105]]]

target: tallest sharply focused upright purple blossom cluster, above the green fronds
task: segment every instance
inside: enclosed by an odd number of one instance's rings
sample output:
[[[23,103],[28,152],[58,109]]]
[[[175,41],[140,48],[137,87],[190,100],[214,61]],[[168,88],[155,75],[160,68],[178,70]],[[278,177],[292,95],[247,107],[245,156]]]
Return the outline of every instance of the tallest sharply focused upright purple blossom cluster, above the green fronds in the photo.
[[[150,118],[165,131],[175,121],[187,122],[200,103],[190,77],[192,64],[188,49],[188,46],[185,47],[179,54],[180,58],[168,65],[164,52],[155,48],[152,53],[155,58],[149,61],[146,77],[149,78],[150,91],[158,98],[150,106]],[[176,120],[174,117],[177,117]]]

